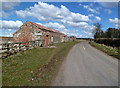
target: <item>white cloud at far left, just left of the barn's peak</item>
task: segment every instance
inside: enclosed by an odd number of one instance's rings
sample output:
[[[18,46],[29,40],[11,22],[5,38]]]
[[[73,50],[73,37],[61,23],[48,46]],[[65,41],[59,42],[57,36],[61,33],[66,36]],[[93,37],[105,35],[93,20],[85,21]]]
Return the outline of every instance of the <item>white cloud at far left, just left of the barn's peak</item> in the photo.
[[[17,21],[6,21],[6,20],[0,20],[0,26],[2,26],[2,29],[17,29],[19,28],[23,23],[19,20]]]

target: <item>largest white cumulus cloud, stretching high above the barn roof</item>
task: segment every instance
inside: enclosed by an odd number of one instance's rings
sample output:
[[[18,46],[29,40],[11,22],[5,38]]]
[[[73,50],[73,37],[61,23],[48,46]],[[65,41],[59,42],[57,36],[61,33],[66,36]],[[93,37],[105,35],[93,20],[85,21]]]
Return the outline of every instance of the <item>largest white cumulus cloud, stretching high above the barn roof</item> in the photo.
[[[80,23],[89,21],[89,17],[80,13],[73,13],[68,8],[61,5],[60,8],[43,2],[38,2],[33,7],[29,7],[25,10],[16,11],[16,14],[20,17],[32,16],[40,21],[60,21],[63,24]],[[74,27],[74,26],[73,26]]]

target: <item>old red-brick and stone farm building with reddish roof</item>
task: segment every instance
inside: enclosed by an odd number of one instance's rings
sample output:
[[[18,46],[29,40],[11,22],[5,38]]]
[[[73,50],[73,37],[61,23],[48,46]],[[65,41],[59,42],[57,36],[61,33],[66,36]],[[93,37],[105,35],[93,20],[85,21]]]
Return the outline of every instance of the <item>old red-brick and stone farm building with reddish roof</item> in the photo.
[[[13,40],[14,42],[43,40],[44,45],[47,46],[68,41],[69,37],[57,30],[27,21],[13,34]]]

